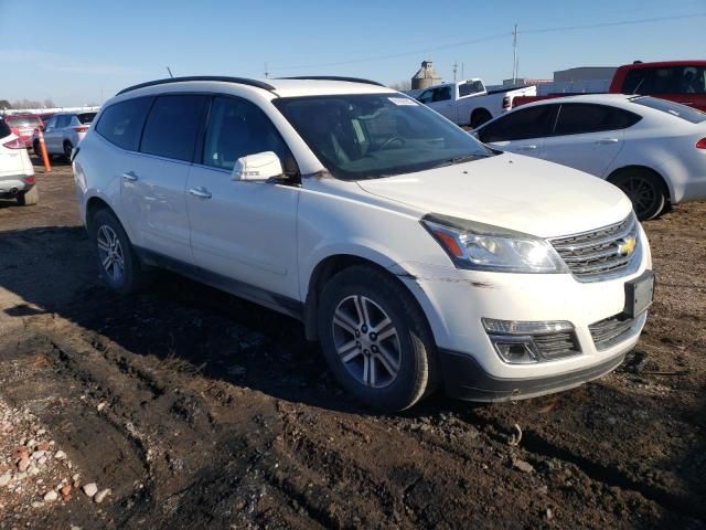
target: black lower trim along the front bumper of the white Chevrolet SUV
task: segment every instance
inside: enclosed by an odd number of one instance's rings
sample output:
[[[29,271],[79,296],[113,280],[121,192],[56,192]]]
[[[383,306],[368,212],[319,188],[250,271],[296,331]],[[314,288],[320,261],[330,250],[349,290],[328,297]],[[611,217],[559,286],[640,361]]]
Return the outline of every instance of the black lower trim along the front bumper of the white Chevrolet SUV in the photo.
[[[439,360],[446,391],[451,398],[495,402],[535,398],[598,379],[618,368],[631,349],[581,370],[526,379],[495,378],[485,372],[471,356],[451,350],[439,350]]]

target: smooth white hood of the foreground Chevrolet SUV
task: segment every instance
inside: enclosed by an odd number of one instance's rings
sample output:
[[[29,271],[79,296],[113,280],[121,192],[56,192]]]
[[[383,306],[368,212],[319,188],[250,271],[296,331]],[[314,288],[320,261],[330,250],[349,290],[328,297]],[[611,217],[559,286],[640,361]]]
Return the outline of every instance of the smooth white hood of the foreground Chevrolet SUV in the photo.
[[[514,153],[357,183],[421,212],[539,237],[606,226],[632,210],[622,191],[597,177]]]

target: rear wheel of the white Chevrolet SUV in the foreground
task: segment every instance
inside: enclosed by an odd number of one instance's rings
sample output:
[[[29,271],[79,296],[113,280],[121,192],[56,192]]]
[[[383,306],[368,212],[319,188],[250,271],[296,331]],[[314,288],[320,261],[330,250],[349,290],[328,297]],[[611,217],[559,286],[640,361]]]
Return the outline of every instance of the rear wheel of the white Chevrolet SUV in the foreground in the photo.
[[[90,240],[100,277],[113,290],[129,295],[146,284],[146,273],[122,225],[113,212],[98,210],[93,216]]]

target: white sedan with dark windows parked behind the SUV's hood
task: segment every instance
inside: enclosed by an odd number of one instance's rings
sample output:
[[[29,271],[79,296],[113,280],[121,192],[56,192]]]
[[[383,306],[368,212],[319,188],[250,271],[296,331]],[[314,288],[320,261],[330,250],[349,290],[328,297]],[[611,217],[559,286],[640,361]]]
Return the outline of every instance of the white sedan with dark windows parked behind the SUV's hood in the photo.
[[[473,132],[503,151],[618,186],[641,220],[706,199],[706,114],[649,96],[592,94],[523,105]]]

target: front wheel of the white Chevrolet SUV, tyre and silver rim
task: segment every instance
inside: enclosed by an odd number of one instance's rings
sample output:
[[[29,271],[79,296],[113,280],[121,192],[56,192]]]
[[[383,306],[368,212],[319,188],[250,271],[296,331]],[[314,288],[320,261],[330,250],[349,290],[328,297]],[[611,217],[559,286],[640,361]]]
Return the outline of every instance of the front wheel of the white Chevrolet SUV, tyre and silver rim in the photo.
[[[427,319],[409,292],[384,272],[355,265],[333,276],[321,293],[318,326],[331,371],[361,402],[399,412],[436,390],[438,363]]]

